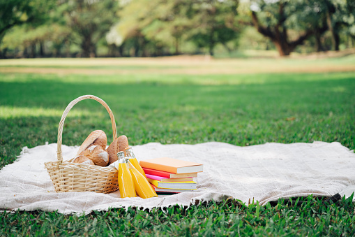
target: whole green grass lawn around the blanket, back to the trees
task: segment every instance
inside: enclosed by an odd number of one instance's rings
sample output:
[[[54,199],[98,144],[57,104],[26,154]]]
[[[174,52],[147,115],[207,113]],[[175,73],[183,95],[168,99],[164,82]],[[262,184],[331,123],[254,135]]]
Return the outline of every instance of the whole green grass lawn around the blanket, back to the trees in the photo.
[[[0,61],[0,168],[13,163],[24,146],[56,143],[63,110],[83,94],[107,102],[118,134],[126,134],[132,145],[338,141],[355,148],[354,56],[306,61],[87,60]],[[255,73],[246,73],[253,68]],[[215,73],[218,69],[222,73]],[[81,101],[66,119],[63,144],[80,145],[95,129],[104,130],[112,141],[105,108]],[[188,209],[175,206],[166,213],[130,208],[82,217],[0,213],[0,236],[355,234],[352,201],[332,203],[311,196],[301,201],[245,206],[227,200]]]

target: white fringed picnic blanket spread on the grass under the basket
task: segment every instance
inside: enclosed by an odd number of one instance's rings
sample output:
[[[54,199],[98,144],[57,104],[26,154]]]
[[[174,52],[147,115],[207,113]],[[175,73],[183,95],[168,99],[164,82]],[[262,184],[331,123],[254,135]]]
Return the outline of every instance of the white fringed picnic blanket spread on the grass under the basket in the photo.
[[[63,159],[75,156],[78,147],[62,146]],[[172,157],[204,164],[197,176],[197,190],[156,198],[121,199],[119,191],[56,193],[44,168],[56,160],[56,143],[23,148],[13,164],[0,171],[0,209],[58,210],[59,213],[88,214],[92,210],[190,206],[195,201],[220,201],[232,197],[248,203],[265,204],[294,196],[333,196],[355,185],[355,154],[340,143],[266,143],[240,147],[227,143],[162,145],[148,143],[133,147],[136,157]]]

